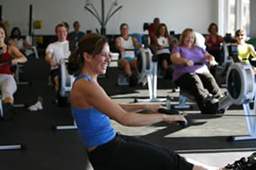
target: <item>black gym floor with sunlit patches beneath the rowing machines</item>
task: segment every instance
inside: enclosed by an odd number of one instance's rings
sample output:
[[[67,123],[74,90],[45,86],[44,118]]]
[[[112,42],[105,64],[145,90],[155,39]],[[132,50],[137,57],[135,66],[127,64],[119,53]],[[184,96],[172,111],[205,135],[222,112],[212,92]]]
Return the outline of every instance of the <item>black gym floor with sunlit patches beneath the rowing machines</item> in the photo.
[[[15,104],[31,106],[41,96],[44,108],[39,112],[30,112],[25,107],[16,107],[13,121],[0,122],[0,145],[26,144],[24,150],[0,150],[0,168],[93,170],[76,130],[52,130],[55,125],[73,124],[73,119],[70,107],[57,107],[55,103],[55,92],[48,85],[49,65],[44,62],[43,56],[43,53],[40,54],[39,60],[29,57],[29,62],[22,68],[20,81],[29,81],[30,84],[19,85],[14,98]],[[147,87],[117,86],[117,71],[116,67],[110,67],[107,76],[99,79],[111,98],[119,103],[133,103],[135,98],[148,98]],[[158,79],[158,98],[169,95],[172,105],[176,105],[179,92],[172,92],[172,88],[171,80]],[[192,109],[181,111],[188,117],[187,128],[167,123],[146,127],[124,127],[114,121],[112,124],[117,132],[174,149],[184,157],[210,166],[225,166],[256,150],[255,140],[226,140],[229,136],[248,135],[242,106],[231,106],[222,116],[200,115],[197,106],[192,102],[190,105]]]

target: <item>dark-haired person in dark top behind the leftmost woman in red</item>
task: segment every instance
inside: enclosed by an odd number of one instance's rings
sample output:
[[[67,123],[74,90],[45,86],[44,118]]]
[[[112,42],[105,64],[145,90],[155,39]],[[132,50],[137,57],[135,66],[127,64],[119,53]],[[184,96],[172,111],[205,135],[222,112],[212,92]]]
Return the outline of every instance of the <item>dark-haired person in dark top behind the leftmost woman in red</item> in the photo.
[[[21,30],[18,27],[13,28],[9,43],[10,45],[18,47],[23,55],[26,54],[26,50],[31,49],[31,45],[27,42],[27,40],[25,38],[22,38]]]

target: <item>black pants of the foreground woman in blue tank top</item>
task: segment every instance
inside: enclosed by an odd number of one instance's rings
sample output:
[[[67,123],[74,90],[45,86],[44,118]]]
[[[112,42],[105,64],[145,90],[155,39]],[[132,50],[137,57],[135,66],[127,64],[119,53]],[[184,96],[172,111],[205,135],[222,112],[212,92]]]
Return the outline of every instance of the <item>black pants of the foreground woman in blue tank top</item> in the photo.
[[[88,153],[94,170],[192,170],[193,165],[170,149],[117,134]]]

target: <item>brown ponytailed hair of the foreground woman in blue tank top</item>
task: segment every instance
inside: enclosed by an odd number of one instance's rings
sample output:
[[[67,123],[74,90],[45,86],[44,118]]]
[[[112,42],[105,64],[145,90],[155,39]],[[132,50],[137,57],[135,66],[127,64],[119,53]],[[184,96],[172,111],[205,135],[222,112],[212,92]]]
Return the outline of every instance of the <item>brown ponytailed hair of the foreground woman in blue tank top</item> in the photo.
[[[99,55],[107,42],[108,39],[100,34],[86,34],[84,38],[79,41],[78,49],[76,49],[68,58],[68,73],[74,74],[75,76],[78,75],[84,65],[83,53],[86,52],[90,55]]]

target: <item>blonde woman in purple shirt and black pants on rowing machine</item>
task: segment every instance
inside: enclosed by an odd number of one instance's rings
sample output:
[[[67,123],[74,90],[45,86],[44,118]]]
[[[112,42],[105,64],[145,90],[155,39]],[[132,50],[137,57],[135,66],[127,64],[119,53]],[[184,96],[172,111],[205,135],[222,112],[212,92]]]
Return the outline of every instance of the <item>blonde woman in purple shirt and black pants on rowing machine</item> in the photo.
[[[178,46],[172,49],[171,59],[174,83],[196,98],[202,114],[216,114],[217,98],[222,98],[223,94],[203,64],[215,65],[216,61],[213,55],[196,46],[194,30],[183,30]]]

